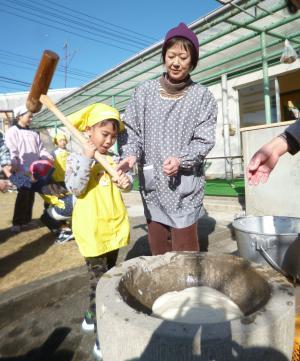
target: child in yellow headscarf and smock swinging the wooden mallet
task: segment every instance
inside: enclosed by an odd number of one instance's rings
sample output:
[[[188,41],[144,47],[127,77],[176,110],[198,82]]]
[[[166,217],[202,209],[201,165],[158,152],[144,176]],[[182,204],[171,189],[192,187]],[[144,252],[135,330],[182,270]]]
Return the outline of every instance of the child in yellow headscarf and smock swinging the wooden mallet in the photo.
[[[72,230],[90,273],[90,306],[82,327],[96,332],[97,282],[116,264],[119,248],[129,242],[128,215],[117,186],[129,190],[132,179],[118,172],[119,179],[114,184],[103,167],[93,159],[95,150],[98,150],[108,154],[107,160],[114,165],[109,149],[115,143],[118,132],[124,129],[116,109],[97,103],[74,113],[69,120],[89,136],[84,153],[69,156],[65,179],[68,189],[77,197]],[[94,355],[99,359],[102,357],[97,337]]]

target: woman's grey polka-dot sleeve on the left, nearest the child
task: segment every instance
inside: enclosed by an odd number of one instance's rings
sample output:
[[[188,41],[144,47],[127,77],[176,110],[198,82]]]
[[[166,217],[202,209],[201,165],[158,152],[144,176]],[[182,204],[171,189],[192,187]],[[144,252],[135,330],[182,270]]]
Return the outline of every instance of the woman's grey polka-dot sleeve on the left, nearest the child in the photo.
[[[125,111],[125,131],[120,133],[118,143],[122,158],[135,156],[140,159],[142,152],[141,117],[144,114],[143,92],[137,88]]]

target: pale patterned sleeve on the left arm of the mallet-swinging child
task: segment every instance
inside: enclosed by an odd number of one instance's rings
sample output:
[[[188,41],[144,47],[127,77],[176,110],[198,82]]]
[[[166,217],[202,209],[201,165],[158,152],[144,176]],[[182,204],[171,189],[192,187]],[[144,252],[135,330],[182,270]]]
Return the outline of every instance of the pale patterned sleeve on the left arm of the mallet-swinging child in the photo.
[[[70,154],[67,158],[65,183],[68,190],[76,197],[85,193],[93,159],[80,154]]]

